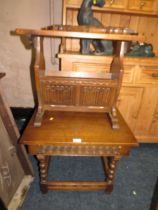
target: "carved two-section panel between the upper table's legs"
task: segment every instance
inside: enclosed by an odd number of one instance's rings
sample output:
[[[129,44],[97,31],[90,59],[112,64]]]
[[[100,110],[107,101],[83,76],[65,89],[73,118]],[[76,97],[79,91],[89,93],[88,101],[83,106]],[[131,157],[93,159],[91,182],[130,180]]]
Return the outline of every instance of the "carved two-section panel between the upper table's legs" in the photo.
[[[41,79],[42,103],[51,107],[109,107],[110,110],[117,85],[117,80],[110,79],[45,77]]]

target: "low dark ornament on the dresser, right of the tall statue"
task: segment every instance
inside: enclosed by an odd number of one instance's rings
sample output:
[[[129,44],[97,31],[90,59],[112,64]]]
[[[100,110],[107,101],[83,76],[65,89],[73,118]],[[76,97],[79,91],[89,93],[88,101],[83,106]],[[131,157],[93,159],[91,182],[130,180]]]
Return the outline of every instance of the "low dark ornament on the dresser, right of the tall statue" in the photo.
[[[133,57],[154,57],[153,46],[147,43],[135,43],[131,46],[130,51],[126,56]]]

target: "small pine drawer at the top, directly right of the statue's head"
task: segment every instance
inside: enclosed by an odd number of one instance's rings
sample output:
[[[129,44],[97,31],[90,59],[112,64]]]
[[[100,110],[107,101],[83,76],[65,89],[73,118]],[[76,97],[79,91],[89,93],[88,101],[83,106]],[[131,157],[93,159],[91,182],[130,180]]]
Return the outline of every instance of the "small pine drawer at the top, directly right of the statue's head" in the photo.
[[[127,0],[106,0],[106,5],[105,7],[110,7],[110,8],[126,8],[127,5]]]

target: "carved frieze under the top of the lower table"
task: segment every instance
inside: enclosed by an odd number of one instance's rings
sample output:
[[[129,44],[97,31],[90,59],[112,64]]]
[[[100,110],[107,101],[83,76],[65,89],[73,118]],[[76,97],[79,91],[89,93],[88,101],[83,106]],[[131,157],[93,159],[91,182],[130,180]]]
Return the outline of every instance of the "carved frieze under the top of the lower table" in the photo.
[[[47,155],[72,156],[116,156],[121,153],[121,146],[39,146],[38,153]]]

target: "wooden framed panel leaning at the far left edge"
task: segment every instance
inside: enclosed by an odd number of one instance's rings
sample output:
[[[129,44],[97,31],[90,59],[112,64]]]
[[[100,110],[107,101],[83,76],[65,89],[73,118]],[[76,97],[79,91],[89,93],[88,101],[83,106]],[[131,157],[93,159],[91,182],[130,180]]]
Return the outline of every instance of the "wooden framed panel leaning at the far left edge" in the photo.
[[[5,74],[0,73],[0,79]],[[21,205],[30,183],[33,170],[20,135],[0,86],[0,198],[6,208]]]

